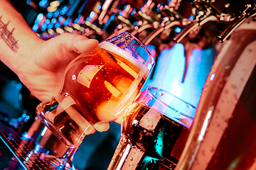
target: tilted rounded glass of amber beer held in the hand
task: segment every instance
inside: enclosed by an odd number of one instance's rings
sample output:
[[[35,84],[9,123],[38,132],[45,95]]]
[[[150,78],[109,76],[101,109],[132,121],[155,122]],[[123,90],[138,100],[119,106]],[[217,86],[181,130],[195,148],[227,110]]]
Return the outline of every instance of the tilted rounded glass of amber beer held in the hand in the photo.
[[[38,105],[38,117],[65,145],[78,147],[96,124],[123,115],[153,66],[154,58],[133,35],[105,40],[70,62],[63,89]]]

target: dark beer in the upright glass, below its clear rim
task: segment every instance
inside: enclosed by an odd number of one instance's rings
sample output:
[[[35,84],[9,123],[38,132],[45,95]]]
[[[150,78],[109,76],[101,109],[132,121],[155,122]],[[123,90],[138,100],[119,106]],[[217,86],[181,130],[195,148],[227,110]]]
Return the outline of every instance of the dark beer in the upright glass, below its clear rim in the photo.
[[[174,169],[190,131],[185,123],[138,102],[123,120],[109,170]]]

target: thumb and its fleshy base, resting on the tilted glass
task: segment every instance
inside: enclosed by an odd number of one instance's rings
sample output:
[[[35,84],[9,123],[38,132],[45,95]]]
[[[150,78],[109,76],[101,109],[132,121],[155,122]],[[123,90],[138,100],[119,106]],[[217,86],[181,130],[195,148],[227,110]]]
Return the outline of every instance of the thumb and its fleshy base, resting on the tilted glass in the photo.
[[[40,49],[35,52],[38,54],[37,63],[43,69],[54,69],[50,71],[56,72],[56,69],[60,70],[65,68],[81,53],[89,52],[90,50],[95,49],[98,43],[99,42],[97,40],[88,39],[83,35],[63,33],[62,35],[51,38],[40,45]],[[53,62],[48,64],[41,62],[49,60]]]

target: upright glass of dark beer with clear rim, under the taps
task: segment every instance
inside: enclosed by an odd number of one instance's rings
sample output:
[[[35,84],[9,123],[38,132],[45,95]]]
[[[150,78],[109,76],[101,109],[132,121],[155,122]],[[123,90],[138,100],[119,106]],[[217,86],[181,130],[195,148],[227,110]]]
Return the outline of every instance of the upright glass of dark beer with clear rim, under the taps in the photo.
[[[108,170],[174,169],[186,144],[196,107],[146,87],[126,111]]]

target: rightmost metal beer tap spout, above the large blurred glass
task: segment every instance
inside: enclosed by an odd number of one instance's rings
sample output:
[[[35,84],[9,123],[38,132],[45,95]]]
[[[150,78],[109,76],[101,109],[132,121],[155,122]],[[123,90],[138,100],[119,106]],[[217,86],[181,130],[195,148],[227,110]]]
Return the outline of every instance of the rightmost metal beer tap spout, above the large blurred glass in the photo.
[[[219,42],[224,42],[227,40],[230,35],[233,33],[235,28],[238,28],[240,24],[245,21],[246,18],[256,15],[256,6],[255,4],[246,4],[245,10],[241,12],[240,16],[237,16],[230,22],[230,24],[225,28],[220,35],[217,36]]]

